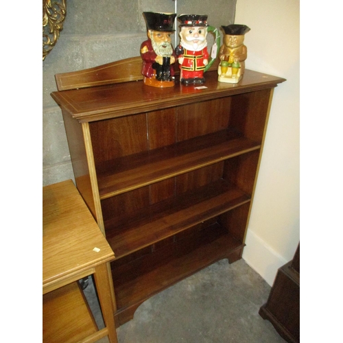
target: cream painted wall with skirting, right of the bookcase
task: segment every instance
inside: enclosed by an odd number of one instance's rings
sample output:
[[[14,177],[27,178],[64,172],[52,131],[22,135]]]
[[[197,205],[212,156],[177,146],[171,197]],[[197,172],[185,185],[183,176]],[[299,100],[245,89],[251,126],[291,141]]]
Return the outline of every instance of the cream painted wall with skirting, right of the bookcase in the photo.
[[[235,23],[250,32],[246,68],[287,79],[274,90],[244,260],[270,285],[300,237],[300,1],[237,0]]]

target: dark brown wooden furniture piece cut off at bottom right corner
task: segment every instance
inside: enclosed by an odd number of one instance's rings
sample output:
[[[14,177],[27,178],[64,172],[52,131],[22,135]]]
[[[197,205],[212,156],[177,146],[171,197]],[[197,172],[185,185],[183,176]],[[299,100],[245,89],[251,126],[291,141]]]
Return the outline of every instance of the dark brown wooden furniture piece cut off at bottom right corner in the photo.
[[[259,314],[289,343],[300,342],[300,244],[294,259],[279,268]]]

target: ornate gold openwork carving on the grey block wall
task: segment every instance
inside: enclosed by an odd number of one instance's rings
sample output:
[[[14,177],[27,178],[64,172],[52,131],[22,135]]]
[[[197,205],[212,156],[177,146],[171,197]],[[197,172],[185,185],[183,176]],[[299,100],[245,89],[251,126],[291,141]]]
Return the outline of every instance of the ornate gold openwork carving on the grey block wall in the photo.
[[[67,0],[43,0],[43,60],[54,48],[63,29]]]

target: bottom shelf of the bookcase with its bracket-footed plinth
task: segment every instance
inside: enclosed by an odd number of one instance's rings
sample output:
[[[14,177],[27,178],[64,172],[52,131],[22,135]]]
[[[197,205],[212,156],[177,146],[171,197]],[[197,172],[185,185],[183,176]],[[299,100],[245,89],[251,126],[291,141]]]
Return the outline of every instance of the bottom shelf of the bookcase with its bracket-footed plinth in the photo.
[[[160,249],[126,265],[117,267],[113,264],[119,322],[130,320],[135,309],[161,289],[220,259],[230,257],[231,261],[235,261],[242,244],[222,226],[212,224],[198,235],[193,233],[191,239],[180,239],[167,248],[167,254]],[[129,279],[125,278],[127,275]]]

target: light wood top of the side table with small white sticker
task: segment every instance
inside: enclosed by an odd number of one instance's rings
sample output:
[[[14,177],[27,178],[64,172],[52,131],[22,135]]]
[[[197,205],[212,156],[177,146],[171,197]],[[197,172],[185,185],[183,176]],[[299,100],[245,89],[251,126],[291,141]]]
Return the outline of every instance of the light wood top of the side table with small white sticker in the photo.
[[[43,187],[43,293],[114,258],[73,181]]]

